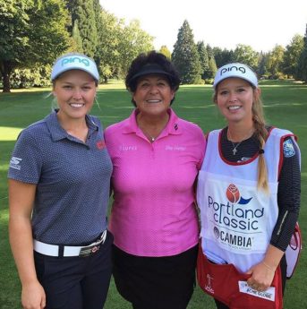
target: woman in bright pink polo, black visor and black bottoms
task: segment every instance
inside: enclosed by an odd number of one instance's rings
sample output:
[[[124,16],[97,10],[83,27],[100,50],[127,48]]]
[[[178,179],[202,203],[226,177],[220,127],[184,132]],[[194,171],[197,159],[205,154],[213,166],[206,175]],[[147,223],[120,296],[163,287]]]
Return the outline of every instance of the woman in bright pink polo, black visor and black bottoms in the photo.
[[[199,237],[193,188],[205,139],[171,108],[179,83],[166,56],[136,57],[125,79],[136,108],[105,133],[114,164],[115,284],[135,309],[184,309],[193,292]]]

